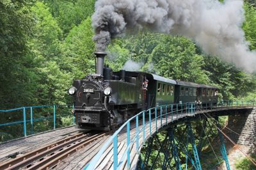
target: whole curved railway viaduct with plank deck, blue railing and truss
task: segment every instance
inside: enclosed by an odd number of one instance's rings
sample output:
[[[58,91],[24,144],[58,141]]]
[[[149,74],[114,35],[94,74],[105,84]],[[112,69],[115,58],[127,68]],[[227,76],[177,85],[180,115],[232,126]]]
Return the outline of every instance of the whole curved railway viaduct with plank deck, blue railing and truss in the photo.
[[[225,130],[220,128],[220,116],[228,116]],[[25,121],[29,120],[25,118]],[[193,134],[195,121],[201,122],[199,135]],[[226,102],[218,107],[209,105],[205,108],[191,103],[164,105],[140,112],[115,132],[95,134],[85,130],[81,133],[70,127],[23,137],[0,144],[0,169],[17,169],[22,166],[26,169],[154,169],[160,157],[163,160],[160,165],[162,169],[202,169],[204,143],[209,142],[207,135],[214,130],[218,131],[216,146],[219,146],[221,154],[218,160],[224,160],[226,168],[230,169],[225,141],[255,147],[254,104]],[[159,139],[159,132],[163,132],[164,139]],[[157,155],[152,155],[153,143],[158,148]],[[145,153],[143,156],[141,150]],[[10,158],[15,153],[22,154]],[[41,156],[36,159],[36,155]],[[38,166],[38,162],[43,164]],[[182,167],[184,163],[185,167]]]

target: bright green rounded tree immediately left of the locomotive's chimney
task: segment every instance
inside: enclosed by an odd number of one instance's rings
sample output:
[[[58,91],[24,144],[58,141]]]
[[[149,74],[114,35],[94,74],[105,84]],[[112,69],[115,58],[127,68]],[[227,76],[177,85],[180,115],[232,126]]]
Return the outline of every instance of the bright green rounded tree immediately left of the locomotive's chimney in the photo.
[[[79,26],[75,26],[62,45],[63,70],[72,73],[73,79],[81,79],[84,75],[94,72],[95,43],[92,40],[92,19],[84,20]]]

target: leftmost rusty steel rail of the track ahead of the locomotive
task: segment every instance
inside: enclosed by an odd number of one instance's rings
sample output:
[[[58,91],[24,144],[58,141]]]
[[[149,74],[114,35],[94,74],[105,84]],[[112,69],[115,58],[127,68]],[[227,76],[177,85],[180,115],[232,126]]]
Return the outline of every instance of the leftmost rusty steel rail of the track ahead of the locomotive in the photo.
[[[79,134],[72,135],[55,143],[48,144],[47,146],[43,146],[42,148],[26,153],[25,155],[22,155],[22,157],[16,157],[8,162],[3,162],[3,164],[0,164],[0,169],[19,169],[20,167],[29,166],[29,164],[33,163],[35,159],[40,159],[44,157],[44,155],[48,155],[53,151],[59,150],[61,147],[87,137],[89,132],[90,131],[86,132],[87,134],[81,132]]]

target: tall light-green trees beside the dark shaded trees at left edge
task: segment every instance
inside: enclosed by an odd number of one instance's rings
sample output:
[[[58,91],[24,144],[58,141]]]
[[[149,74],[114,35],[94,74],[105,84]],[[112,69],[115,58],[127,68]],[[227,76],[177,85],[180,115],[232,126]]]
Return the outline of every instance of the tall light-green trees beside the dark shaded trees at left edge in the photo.
[[[61,70],[62,31],[44,3],[35,3],[32,8],[36,25],[34,36],[30,40],[33,51],[30,55],[35,61],[37,92],[40,104],[63,104],[67,101],[67,89],[72,79],[70,74]]]

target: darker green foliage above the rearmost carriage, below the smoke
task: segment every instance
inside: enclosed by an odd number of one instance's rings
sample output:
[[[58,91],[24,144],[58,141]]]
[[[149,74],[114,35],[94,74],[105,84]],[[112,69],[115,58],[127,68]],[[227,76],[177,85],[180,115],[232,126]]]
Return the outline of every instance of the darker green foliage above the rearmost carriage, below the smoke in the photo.
[[[223,98],[235,99],[255,91],[256,79],[253,75],[242,72],[234,65],[223,63],[217,57],[205,56],[204,61],[204,69],[210,73],[209,79],[220,88]]]

